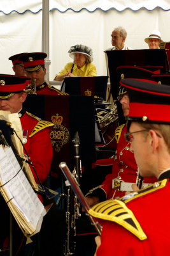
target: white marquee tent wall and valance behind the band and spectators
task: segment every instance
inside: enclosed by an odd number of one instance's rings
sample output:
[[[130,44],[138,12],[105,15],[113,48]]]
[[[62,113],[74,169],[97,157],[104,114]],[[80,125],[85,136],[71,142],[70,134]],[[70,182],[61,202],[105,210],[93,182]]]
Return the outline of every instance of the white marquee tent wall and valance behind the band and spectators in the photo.
[[[13,74],[11,55],[42,51],[43,1],[48,0],[0,1],[1,74]],[[75,44],[92,47],[97,76],[106,76],[103,51],[111,47],[111,31],[117,26],[127,30],[126,44],[132,49],[148,49],[144,38],[154,29],[170,41],[170,0],[49,0],[48,4],[50,80],[71,61],[67,51]]]

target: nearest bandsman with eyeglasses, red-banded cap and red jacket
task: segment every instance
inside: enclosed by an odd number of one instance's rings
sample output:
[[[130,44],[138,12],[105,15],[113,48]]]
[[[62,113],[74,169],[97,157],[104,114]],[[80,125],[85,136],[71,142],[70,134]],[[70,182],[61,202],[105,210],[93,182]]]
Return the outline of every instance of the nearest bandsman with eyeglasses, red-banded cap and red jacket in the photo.
[[[99,218],[103,226],[96,256],[113,253],[167,256],[170,246],[170,87],[134,79],[123,79],[121,83],[130,99],[125,139],[131,143],[139,174],[155,176],[158,181],[120,200],[108,200],[90,209],[89,213]]]

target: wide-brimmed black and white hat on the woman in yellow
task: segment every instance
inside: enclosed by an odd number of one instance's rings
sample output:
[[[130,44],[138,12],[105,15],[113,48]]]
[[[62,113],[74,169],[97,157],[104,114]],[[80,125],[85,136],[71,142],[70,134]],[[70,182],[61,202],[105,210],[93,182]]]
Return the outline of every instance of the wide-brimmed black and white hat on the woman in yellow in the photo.
[[[93,61],[93,52],[92,49],[89,46],[82,45],[82,44],[76,44],[74,46],[71,46],[69,49],[69,56],[74,59],[75,53],[82,53],[90,57],[90,61]]]

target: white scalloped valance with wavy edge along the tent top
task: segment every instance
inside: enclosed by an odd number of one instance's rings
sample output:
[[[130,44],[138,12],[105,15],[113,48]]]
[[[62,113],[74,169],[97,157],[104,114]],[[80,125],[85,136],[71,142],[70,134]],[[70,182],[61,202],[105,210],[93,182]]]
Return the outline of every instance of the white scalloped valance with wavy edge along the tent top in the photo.
[[[88,12],[95,12],[100,9],[104,12],[115,9],[118,12],[130,9],[138,11],[145,8],[148,11],[161,8],[164,11],[170,10],[169,0],[49,0],[50,11],[57,10],[59,12],[81,12],[87,10]],[[42,10],[42,1],[40,0],[1,0],[0,12],[8,15],[11,12],[23,14],[27,11],[38,13]]]

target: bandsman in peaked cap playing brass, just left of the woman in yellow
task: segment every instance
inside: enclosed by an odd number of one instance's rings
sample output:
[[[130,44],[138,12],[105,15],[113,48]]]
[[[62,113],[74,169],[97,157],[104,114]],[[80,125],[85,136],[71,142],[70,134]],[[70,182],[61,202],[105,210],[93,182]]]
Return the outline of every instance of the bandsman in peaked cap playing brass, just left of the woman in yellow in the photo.
[[[18,58],[24,64],[24,69],[27,77],[31,77],[29,86],[31,93],[46,94],[46,95],[67,95],[57,88],[47,84],[45,81],[46,68],[45,58],[47,54],[44,52],[31,52],[23,54]]]

